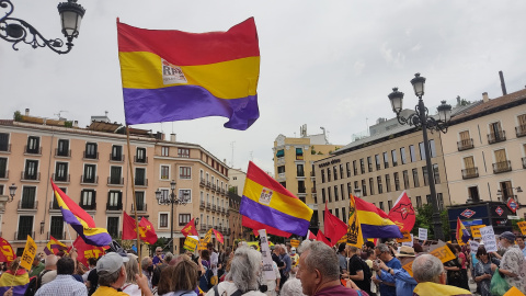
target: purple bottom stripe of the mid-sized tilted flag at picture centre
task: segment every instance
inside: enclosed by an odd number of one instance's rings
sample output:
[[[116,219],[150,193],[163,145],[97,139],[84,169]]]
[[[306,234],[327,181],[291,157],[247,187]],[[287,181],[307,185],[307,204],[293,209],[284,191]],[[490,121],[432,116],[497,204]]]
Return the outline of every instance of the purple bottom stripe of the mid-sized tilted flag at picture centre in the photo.
[[[310,221],[293,217],[275,208],[262,205],[244,196],[239,213],[264,225],[298,236],[307,235]]]

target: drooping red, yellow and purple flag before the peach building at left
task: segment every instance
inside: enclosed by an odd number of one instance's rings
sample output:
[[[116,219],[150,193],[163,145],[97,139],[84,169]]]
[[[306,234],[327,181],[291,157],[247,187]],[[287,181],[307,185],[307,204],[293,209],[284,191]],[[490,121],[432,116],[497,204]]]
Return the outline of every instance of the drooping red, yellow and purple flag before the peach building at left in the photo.
[[[64,220],[81,236],[84,241],[92,246],[107,246],[112,242],[112,237],[104,228],[96,228],[93,218],[85,213],[77,203],[71,201],[55,183],[52,187],[57,198],[58,206],[62,212]]]

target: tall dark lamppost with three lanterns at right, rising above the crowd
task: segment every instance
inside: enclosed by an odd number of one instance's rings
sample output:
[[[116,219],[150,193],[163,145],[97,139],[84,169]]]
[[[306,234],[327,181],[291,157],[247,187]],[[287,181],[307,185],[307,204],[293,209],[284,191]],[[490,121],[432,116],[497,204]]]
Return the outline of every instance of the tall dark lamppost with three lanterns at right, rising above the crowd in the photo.
[[[414,107],[414,113],[410,114],[407,118],[400,115],[403,105],[403,92],[398,91],[398,88],[393,88],[388,98],[391,101],[392,111],[397,114],[397,119],[401,125],[409,124],[410,126],[414,125],[416,128],[422,128],[424,138],[425,164],[427,168],[427,183],[430,184],[431,200],[433,203],[433,228],[435,238],[444,240],[441,214],[438,212],[438,200],[436,198],[434,173],[431,164],[427,129],[430,129],[432,133],[436,130],[446,134],[447,124],[451,118],[451,106],[446,104],[446,101],[442,101],[442,104],[437,107],[438,119],[435,119],[428,115],[428,110],[425,107],[424,101],[422,100],[425,89],[425,78],[421,77],[420,73],[415,73],[414,78],[411,79],[411,84],[413,84],[414,94],[419,98],[419,104]]]

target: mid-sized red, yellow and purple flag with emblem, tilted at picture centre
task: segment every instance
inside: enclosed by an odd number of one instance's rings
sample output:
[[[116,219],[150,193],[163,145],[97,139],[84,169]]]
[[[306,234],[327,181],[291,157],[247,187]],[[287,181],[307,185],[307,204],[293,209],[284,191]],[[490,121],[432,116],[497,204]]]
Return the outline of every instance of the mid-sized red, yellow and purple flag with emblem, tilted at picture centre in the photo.
[[[239,213],[279,231],[305,236],[313,210],[250,161]],[[242,225],[250,227],[249,219],[243,217]]]

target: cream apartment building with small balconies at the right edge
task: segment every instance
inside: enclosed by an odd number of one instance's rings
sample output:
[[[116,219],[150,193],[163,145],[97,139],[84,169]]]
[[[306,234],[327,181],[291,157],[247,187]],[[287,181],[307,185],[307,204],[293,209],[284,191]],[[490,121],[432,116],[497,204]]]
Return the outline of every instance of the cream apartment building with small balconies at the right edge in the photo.
[[[454,203],[526,204],[526,90],[492,100],[483,93],[480,104],[453,117],[443,141]],[[517,215],[525,217],[525,208]]]

